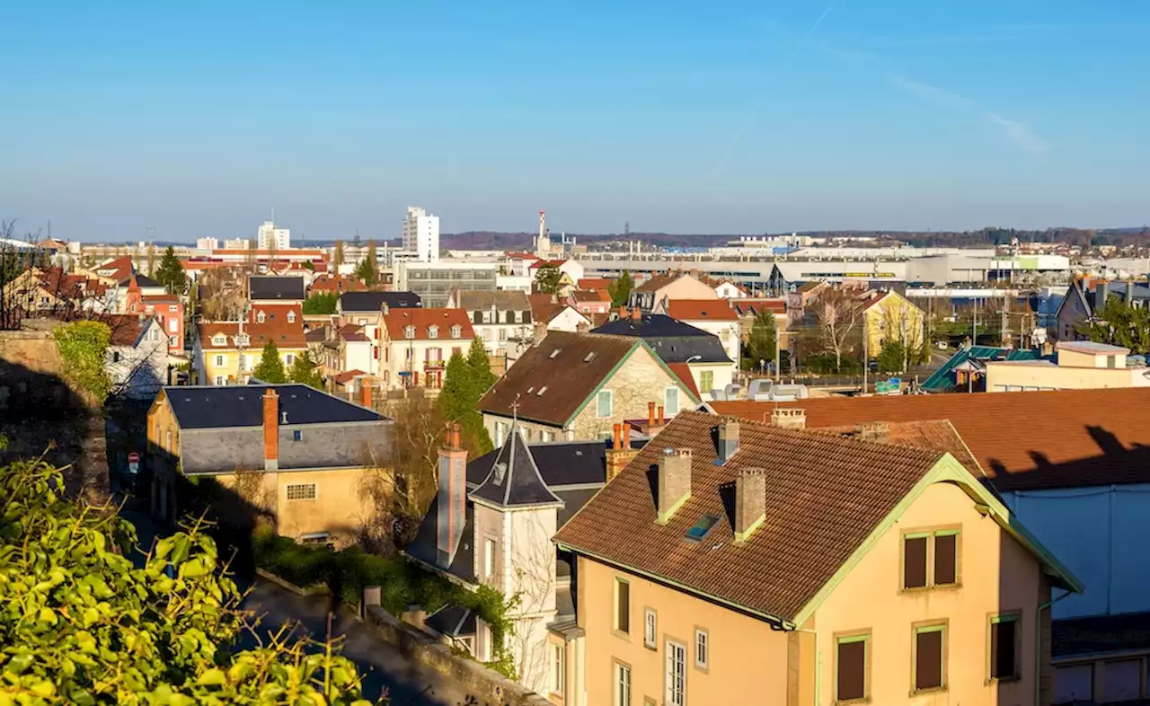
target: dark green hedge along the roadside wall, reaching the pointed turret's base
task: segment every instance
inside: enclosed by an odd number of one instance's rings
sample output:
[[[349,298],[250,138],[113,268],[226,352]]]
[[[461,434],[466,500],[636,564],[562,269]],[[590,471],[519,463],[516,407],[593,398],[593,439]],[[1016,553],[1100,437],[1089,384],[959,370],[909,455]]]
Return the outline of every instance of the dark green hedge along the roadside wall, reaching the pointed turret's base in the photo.
[[[304,546],[288,537],[279,537],[270,529],[261,529],[252,537],[255,563],[299,586],[327,585],[334,596],[356,605],[366,586],[379,586],[379,605],[392,615],[399,615],[409,605],[419,605],[434,613],[446,605],[475,611],[483,622],[491,626],[497,659],[488,666],[515,678],[505,636],[513,630],[507,617],[518,598],[507,599],[488,585],[469,591],[436,574],[406,561],[402,557],[369,554],[359,547],[335,552],[328,547]]]

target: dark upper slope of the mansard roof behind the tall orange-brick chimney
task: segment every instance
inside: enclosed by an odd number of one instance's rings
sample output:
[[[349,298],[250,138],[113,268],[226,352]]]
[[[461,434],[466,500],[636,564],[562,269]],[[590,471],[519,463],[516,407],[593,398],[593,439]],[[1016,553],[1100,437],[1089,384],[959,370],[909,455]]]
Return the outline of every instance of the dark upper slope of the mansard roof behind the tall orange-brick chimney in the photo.
[[[375,422],[384,417],[377,412],[300,384],[167,386],[168,404],[182,430],[220,429],[225,427],[261,427],[263,392],[274,387],[279,396],[279,419],[285,424],[324,424],[331,422]]]

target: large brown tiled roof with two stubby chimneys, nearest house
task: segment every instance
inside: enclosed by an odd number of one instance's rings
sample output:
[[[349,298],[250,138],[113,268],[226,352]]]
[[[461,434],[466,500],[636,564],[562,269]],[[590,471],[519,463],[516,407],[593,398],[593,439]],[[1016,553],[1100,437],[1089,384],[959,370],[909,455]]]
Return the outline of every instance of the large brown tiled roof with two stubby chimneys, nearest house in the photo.
[[[792,621],[941,454],[743,422],[739,450],[715,465],[721,417],[687,412],[555,536],[577,552]],[[653,468],[665,448],[691,448],[691,497],[656,523]],[[733,544],[724,498],[739,469],[766,470],[766,521]],[[703,542],[687,530],[719,517]]]

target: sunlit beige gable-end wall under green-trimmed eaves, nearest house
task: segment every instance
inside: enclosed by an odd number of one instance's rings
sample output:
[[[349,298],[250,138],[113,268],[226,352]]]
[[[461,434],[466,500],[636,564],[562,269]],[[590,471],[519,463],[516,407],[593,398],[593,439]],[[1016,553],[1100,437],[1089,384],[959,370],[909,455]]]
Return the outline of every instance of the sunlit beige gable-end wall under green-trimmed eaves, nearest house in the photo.
[[[903,591],[903,534],[942,528],[960,530],[960,586]],[[1042,591],[1038,563],[1027,550],[979,514],[960,488],[931,485],[815,613],[821,703],[834,699],[835,635],[869,630],[874,704],[1034,704],[1035,615]],[[1022,614],[1021,678],[989,682],[989,619],[1012,612]],[[948,621],[948,688],[914,696],[913,626],[935,620]]]

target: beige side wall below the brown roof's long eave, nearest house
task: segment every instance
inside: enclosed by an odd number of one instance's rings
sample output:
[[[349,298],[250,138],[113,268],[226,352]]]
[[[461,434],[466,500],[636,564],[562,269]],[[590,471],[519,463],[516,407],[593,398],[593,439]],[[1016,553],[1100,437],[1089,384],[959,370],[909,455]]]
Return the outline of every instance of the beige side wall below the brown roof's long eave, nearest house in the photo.
[[[614,581],[630,584],[630,635],[614,627]],[[631,668],[631,704],[665,698],[666,643],[687,645],[688,704],[779,704],[788,693],[787,632],[762,621],[665,588],[606,565],[578,559],[578,622],[586,632],[586,704],[613,704],[614,663]],[[656,649],[644,645],[645,608],[657,611]],[[695,629],[705,629],[710,667],[695,667]]]

